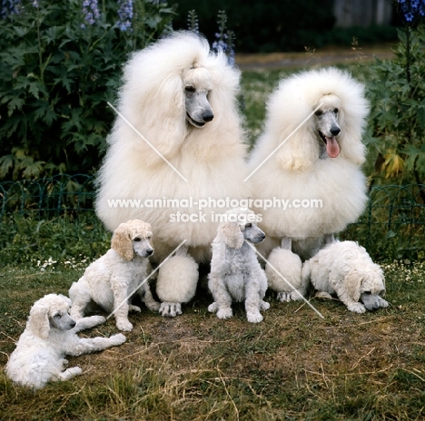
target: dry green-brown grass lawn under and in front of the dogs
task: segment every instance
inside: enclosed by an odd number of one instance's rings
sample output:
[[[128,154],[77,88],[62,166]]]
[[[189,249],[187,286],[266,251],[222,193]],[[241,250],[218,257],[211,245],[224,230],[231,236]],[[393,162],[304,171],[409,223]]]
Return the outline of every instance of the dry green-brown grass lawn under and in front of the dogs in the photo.
[[[84,374],[35,393],[0,375],[2,420],[414,420],[425,416],[424,264],[383,265],[390,308],[357,315],[337,300],[280,303],[264,321],[207,312],[199,293],[177,318],[147,309],[117,348],[70,357]],[[29,308],[67,293],[84,269],[5,268],[0,277],[0,366]],[[84,335],[109,336],[114,319]]]

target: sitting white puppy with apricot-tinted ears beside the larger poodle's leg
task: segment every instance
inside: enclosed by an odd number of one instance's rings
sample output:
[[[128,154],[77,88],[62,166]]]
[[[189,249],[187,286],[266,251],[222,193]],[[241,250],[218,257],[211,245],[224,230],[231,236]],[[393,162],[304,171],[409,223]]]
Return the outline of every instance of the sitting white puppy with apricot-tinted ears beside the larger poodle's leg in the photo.
[[[131,305],[136,289],[147,308],[158,310],[160,304],[153,299],[146,280],[148,258],[153,254],[151,240],[151,225],[143,220],[120,224],[114,230],[111,249],[85,269],[84,275],[69,289],[73,301],[71,316],[83,318],[94,302],[106,311],[114,311],[117,328],[130,331],[133,325],[128,319],[129,310],[141,311]]]

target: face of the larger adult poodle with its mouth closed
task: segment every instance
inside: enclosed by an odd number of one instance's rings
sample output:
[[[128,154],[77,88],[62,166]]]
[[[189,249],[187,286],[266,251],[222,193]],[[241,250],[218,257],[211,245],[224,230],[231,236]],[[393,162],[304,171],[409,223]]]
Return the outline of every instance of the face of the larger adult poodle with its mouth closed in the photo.
[[[211,75],[204,67],[193,66],[183,73],[186,121],[202,128],[214,118],[209,95],[213,90]]]

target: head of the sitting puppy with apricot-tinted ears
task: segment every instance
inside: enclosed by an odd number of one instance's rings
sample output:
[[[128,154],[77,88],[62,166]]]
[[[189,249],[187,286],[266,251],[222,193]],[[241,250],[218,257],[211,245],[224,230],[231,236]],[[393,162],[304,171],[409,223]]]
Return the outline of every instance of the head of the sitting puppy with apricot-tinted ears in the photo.
[[[129,220],[114,230],[111,247],[123,259],[132,260],[134,256],[148,258],[153,255],[152,228],[143,220]]]

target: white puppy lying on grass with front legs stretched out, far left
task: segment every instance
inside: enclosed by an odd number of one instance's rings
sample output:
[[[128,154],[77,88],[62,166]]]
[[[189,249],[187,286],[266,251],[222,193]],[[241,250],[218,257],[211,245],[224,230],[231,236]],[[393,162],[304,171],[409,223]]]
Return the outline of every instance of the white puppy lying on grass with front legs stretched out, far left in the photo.
[[[123,334],[111,338],[79,338],[80,330],[104,323],[101,316],[80,318],[75,322],[68,314],[71,300],[48,294],[35,302],[9,358],[5,372],[16,384],[38,389],[50,380],[69,380],[82,373],[80,367],[64,369],[65,355],[80,356],[124,344]]]

